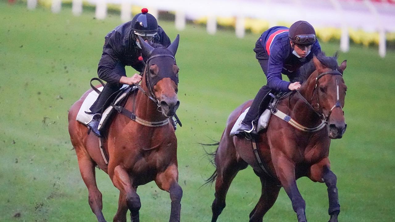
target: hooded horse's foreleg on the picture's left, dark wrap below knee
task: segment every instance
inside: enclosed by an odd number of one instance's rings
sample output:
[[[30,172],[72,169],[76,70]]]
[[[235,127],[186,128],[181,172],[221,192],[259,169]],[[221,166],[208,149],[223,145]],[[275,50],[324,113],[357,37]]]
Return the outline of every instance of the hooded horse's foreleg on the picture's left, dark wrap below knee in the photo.
[[[130,210],[132,222],[139,222],[139,210],[141,208],[140,197],[132,187],[131,179],[126,170],[121,166],[114,168],[113,184],[119,191],[126,195],[126,205]]]

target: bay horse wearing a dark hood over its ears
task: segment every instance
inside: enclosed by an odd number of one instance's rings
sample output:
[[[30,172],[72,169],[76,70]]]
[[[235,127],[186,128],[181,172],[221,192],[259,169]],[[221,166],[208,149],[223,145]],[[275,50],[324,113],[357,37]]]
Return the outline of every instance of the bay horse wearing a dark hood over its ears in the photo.
[[[177,100],[178,66],[174,55],[177,52],[179,36],[167,47],[153,48],[141,38],[143,56],[148,59],[141,82],[141,88],[148,92],[152,100],[139,90],[131,94],[125,108],[135,111],[135,115],[149,122],[165,121],[175,115],[179,106]],[[175,81],[176,80],[176,81]],[[137,186],[155,181],[158,187],[170,193],[170,222],[180,221],[182,189],[178,184],[177,138],[173,126],[159,127],[141,125],[125,115],[115,115],[104,140],[105,151],[109,154],[106,166],[98,143],[98,137],[87,134],[88,129],[75,120],[79,108],[88,93],[71,106],[69,111],[69,133],[71,143],[77,153],[81,176],[88,188],[89,205],[99,222],[104,222],[102,194],[95,178],[95,166],[108,173],[114,186],[120,191],[118,211],[114,222],[126,222],[130,210],[132,222],[139,222],[140,198]],[[160,107],[161,111],[158,111]]]

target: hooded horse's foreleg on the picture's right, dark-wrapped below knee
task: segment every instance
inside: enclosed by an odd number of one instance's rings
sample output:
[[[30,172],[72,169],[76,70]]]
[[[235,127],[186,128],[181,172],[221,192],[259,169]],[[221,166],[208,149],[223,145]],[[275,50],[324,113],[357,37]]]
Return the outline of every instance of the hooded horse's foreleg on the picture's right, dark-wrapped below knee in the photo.
[[[159,173],[155,180],[162,190],[170,193],[171,212],[169,222],[180,222],[182,188],[178,184],[178,169],[175,165],[170,165],[167,169]]]

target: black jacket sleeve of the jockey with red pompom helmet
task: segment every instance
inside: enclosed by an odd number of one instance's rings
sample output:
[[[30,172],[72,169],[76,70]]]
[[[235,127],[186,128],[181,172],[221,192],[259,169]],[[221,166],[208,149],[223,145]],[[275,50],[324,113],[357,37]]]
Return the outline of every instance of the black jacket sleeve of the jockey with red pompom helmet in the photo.
[[[102,58],[98,65],[98,76],[107,83],[118,84],[121,78],[120,75],[113,71],[119,60],[121,44],[122,36],[115,30],[105,40]]]

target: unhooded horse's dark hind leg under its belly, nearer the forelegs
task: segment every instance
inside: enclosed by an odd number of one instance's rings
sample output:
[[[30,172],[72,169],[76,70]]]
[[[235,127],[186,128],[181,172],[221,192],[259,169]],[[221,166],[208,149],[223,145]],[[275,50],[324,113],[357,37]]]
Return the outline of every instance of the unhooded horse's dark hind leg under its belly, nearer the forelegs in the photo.
[[[277,186],[267,179],[261,178],[262,193],[256,204],[254,210],[250,213],[250,222],[262,222],[263,216],[276,202],[278,193],[280,192],[280,186]]]

